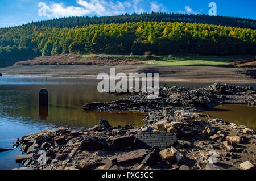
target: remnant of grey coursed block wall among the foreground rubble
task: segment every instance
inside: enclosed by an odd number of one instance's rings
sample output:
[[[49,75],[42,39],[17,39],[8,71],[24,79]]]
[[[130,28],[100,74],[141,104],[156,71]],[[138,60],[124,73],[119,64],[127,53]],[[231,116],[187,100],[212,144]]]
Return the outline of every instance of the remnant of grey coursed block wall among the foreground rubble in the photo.
[[[160,150],[169,148],[177,141],[176,134],[167,132],[141,132],[137,138],[149,146],[158,146]]]

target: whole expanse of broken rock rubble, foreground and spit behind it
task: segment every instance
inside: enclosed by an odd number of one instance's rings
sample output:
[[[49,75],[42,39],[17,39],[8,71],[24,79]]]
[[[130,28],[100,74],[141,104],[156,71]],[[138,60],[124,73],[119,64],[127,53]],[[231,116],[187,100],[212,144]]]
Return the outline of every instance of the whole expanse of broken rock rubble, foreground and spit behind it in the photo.
[[[53,170],[255,169],[255,131],[199,113],[218,104],[255,105],[253,87],[218,83],[196,90],[160,87],[158,99],[147,96],[140,92],[83,107],[147,112],[143,127],[113,128],[100,120],[86,131],[59,128],[29,134],[14,143],[22,145],[24,153],[16,162],[22,163],[20,169]]]

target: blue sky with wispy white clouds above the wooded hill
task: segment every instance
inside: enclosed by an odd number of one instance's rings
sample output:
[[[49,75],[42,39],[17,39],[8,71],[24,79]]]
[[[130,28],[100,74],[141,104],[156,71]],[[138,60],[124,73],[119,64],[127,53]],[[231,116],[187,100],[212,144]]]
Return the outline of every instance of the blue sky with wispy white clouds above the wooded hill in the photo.
[[[0,0],[0,27],[67,16],[111,16],[136,12],[216,14],[256,19],[255,0]]]

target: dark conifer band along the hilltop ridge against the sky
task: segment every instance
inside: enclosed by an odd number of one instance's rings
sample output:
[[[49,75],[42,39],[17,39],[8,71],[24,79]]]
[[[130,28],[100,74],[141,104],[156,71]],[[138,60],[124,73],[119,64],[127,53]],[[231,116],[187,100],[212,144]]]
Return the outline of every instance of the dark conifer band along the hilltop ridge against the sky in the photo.
[[[102,17],[69,17],[46,20],[41,22],[33,22],[36,26],[51,26],[59,28],[73,28],[76,26],[87,26],[89,24],[109,24],[109,23],[132,23],[132,22],[187,22],[187,23],[204,23],[222,26],[232,26],[240,28],[256,29],[256,21],[253,19],[234,18],[226,16],[209,16],[209,15],[193,15],[193,14],[174,14],[152,12],[148,14],[124,14],[118,16],[102,16]]]

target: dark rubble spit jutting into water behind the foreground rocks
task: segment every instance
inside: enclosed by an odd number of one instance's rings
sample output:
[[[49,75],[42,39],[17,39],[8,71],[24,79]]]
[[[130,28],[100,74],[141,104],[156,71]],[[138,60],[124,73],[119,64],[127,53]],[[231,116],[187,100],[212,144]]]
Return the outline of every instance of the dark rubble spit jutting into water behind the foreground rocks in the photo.
[[[191,90],[184,87],[159,87],[159,98],[148,99],[148,93],[135,93],[129,98],[110,103],[87,103],[84,110],[113,111],[139,110],[148,112],[163,110],[170,106],[209,108],[223,103],[256,104],[253,87],[238,87],[215,83],[211,86]]]

